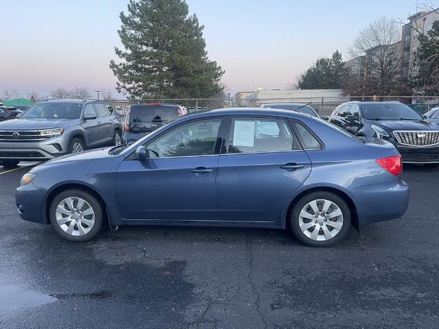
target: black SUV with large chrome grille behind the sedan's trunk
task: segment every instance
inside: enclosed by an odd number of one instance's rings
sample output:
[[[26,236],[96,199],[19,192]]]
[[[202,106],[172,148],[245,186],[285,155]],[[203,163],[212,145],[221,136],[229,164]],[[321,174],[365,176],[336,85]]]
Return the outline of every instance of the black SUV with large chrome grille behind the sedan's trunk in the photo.
[[[350,101],[327,119],[355,136],[377,137],[394,144],[408,163],[439,166],[439,125],[398,101]]]

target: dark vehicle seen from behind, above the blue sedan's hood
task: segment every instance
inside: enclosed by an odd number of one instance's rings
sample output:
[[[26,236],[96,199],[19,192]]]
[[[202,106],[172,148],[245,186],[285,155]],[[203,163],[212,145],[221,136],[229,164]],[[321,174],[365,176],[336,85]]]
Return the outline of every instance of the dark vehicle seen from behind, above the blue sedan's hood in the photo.
[[[188,114],[187,109],[176,104],[133,104],[125,116],[122,141],[130,144],[159,127]]]

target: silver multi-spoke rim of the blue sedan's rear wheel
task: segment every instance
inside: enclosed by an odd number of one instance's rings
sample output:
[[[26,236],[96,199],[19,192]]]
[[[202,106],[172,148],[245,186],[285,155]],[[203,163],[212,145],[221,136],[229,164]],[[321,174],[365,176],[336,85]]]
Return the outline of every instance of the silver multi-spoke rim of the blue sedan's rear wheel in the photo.
[[[318,199],[302,208],[298,222],[300,231],[309,239],[328,241],[342,230],[343,213],[334,202]]]

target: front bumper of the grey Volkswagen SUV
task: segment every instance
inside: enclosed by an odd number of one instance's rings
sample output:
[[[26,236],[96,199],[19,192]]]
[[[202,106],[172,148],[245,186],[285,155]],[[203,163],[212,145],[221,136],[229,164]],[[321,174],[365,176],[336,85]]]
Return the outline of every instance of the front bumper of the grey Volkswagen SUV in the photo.
[[[0,142],[0,160],[44,161],[67,154],[67,138],[57,136],[44,141]]]

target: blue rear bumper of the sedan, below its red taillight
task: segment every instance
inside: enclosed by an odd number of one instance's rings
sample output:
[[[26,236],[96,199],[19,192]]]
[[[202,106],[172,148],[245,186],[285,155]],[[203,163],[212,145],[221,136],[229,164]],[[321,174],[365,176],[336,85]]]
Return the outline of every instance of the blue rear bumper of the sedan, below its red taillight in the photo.
[[[404,215],[410,188],[403,181],[359,186],[351,191],[351,197],[357,207],[359,226],[364,226]]]

